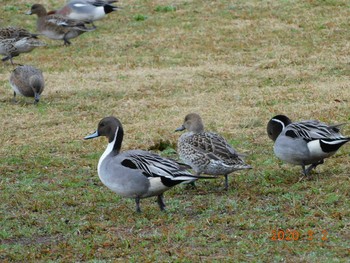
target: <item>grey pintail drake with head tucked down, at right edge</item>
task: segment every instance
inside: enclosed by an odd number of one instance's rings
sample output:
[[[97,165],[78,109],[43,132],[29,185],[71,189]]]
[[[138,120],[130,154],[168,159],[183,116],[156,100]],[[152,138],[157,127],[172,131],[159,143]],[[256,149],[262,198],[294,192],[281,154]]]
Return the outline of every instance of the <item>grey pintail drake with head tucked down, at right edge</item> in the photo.
[[[307,176],[350,140],[340,134],[339,126],[317,120],[292,122],[285,115],[277,115],[268,122],[267,134],[275,142],[275,155],[285,162],[301,165]],[[306,168],[306,165],[310,166]]]

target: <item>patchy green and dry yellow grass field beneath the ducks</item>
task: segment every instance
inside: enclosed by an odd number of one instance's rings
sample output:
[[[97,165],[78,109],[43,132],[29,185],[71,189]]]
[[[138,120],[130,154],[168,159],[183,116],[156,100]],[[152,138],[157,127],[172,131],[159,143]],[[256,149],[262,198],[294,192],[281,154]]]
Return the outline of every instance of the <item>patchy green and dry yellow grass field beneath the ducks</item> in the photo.
[[[0,25],[35,32],[23,14],[33,3],[2,0]],[[118,5],[71,46],[42,37],[47,47],[14,59],[43,71],[38,105],[12,103],[14,67],[0,64],[0,261],[348,262],[350,145],[300,180],[301,167],[274,157],[266,124],[280,113],[350,122],[350,2]],[[124,150],[176,158],[174,130],[190,112],[254,169],[232,175],[227,192],[223,179],[178,186],[166,212],[148,198],[135,213],[97,176],[106,140],[83,137],[114,115]]]

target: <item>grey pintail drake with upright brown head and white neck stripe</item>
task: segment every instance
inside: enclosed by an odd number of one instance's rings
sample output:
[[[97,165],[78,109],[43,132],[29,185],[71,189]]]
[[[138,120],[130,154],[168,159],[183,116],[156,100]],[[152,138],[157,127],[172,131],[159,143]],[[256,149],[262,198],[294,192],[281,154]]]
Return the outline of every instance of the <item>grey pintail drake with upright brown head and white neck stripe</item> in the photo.
[[[165,209],[163,193],[193,176],[185,164],[163,158],[143,150],[121,152],[124,130],[115,117],[105,117],[96,132],[84,139],[105,136],[108,145],[98,162],[97,171],[102,183],[122,197],[134,198],[136,211],[140,212],[140,199],[157,196],[161,210]]]

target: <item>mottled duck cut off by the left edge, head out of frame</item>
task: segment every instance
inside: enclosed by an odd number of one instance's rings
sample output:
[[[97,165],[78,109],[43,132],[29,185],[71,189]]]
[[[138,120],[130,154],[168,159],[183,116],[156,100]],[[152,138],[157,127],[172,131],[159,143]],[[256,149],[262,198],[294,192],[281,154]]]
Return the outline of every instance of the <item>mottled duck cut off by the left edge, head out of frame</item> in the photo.
[[[0,28],[0,54],[5,56],[2,61],[10,60],[13,65],[13,57],[41,46],[46,46],[46,44],[37,39],[36,34],[23,28]]]

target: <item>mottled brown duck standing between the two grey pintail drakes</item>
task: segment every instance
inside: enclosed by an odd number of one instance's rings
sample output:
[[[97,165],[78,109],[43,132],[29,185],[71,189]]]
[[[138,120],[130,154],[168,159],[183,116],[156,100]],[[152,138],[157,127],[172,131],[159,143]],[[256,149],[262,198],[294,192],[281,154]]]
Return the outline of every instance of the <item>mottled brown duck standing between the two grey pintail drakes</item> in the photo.
[[[225,189],[228,189],[228,175],[236,170],[250,169],[242,155],[221,135],[204,131],[202,118],[196,113],[186,115],[184,123],[175,131],[183,133],[178,139],[177,150],[180,159],[200,174],[224,175]]]

